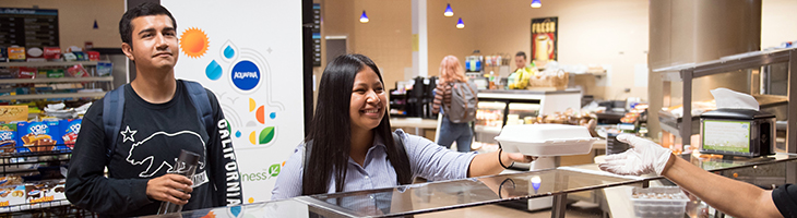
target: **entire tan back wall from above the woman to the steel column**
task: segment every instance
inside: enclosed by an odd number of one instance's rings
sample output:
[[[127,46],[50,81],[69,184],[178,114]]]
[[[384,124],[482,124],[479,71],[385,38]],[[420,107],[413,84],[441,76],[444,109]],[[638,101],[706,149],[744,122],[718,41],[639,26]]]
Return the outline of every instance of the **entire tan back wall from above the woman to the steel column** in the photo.
[[[412,68],[411,1],[322,0],[322,37],[348,36],[349,52],[371,57],[382,68],[385,86],[405,80]],[[453,17],[442,12],[451,3]],[[360,24],[367,11],[370,22]],[[618,13],[619,12],[619,13]],[[634,85],[635,64],[646,63],[647,1],[614,0],[545,1],[532,9],[526,0],[427,2],[429,75],[439,74],[440,61],[448,55],[460,58],[473,50],[483,55],[531,52],[531,20],[559,16],[559,61],[564,64],[608,64],[610,75],[596,80],[590,93],[597,98],[646,98],[647,84]],[[462,17],[464,29],[455,28]],[[323,46],[322,46],[323,49]],[[325,60],[323,57],[322,59]],[[646,76],[646,75],[642,75]],[[320,78],[320,77],[318,77]],[[643,80],[646,81],[646,80]],[[630,93],[623,93],[630,88]]]

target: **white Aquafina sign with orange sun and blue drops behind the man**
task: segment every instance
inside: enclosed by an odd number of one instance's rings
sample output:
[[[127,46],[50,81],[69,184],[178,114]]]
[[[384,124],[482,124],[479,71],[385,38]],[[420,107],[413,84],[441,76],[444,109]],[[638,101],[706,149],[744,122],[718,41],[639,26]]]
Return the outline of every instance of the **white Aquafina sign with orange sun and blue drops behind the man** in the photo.
[[[301,1],[162,0],[177,20],[178,78],[211,89],[228,121],[243,203],[271,198],[304,138]]]

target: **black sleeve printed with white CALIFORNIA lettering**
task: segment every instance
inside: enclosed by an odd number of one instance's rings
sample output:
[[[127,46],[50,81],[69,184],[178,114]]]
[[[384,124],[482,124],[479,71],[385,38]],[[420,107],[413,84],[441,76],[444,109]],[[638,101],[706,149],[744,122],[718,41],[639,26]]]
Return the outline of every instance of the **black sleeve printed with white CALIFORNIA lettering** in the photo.
[[[227,120],[224,119],[224,112],[218,105],[218,99],[211,90],[207,90],[207,97],[211,100],[211,107],[213,107],[213,120],[216,121],[207,133],[210,136],[207,156],[211,162],[209,169],[211,170],[211,182],[216,190],[213,196],[214,206],[240,205],[243,191],[240,173],[238,172],[238,162],[233,149],[231,133]]]

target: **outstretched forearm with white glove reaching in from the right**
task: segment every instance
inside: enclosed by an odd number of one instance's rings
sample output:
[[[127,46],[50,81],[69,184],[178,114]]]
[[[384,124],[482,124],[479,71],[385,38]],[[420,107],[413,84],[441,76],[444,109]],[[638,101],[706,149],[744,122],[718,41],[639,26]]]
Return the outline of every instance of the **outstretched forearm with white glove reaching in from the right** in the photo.
[[[797,186],[785,184],[773,191],[707,172],[654,142],[630,134],[617,140],[631,149],[606,156],[598,167],[617,174],[656,173],[690,194],[733,217],[797,217]]]

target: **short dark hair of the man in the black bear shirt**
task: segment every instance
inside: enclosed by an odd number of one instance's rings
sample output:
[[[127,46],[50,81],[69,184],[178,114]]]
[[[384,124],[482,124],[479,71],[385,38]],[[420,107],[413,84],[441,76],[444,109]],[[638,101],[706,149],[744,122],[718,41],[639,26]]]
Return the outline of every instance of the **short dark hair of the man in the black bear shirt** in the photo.
[[[126,43],[128,45],[133,45],[133,24],[130,22],[133,21],[133,19],[139,16],[150,16],[150,15],[167,15],[169,19],[171,19],[171,26],[177,29],[177,21],[175,21],[175,16],[171,15],[169,10],[166,10],[166,8],[162,7],[160,4],[152,3],[152,2],[144,2],[142,4],[139,4],[135,8],[132,8],[124,12],[124,15],[122,15],[122,20],[119,21],[119,35],[122,37],[122,43]]]

